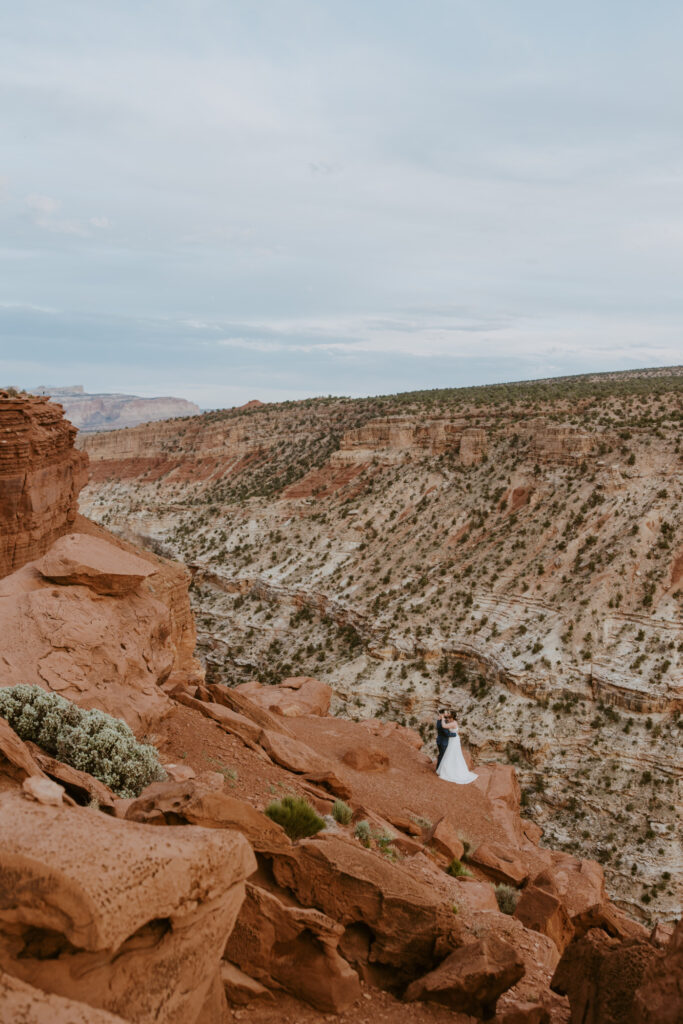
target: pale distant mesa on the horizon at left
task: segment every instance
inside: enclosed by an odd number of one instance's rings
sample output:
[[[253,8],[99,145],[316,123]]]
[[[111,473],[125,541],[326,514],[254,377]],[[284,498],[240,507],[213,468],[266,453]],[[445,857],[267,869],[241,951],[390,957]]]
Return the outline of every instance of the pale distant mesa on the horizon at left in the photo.
[[[88,394],[82,384],[69,387],[41,385],[33,394],[47,395],[58,401],[65,416],[82,433],[120,430],[136,427],[154,420],[171,420],[179,416],[197,416],[199,406],[185,398],[142,398],[134,394]]]

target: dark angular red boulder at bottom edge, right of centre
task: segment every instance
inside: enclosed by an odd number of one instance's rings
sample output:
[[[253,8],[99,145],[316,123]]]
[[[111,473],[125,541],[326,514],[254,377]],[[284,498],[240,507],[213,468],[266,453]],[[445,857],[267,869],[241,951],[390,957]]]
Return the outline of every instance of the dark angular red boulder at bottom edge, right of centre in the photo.
[[[440,1002],[476,1017],[493,1017],[499,995],[524,974],[519,954],[505,940],[488,935],[456,949],[442,964],[414,981],[404,998]]]

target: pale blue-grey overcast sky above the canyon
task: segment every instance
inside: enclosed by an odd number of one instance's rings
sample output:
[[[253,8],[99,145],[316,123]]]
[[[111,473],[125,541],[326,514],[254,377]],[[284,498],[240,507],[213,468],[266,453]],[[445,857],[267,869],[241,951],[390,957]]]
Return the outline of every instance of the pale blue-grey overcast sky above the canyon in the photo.
[[[3,4],[0,384],[681,362],[682,45],[667,0]]]

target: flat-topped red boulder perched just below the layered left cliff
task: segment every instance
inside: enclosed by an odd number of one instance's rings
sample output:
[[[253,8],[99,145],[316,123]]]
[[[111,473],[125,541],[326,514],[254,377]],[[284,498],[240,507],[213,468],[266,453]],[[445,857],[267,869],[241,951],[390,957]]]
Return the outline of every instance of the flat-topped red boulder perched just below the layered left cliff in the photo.
[[[156,567],[113,544],[85,534],[60,537],[37,562],[42,577],[62,587],[89,587],[95,594],[121,597],[154,575]]]

